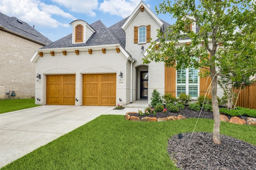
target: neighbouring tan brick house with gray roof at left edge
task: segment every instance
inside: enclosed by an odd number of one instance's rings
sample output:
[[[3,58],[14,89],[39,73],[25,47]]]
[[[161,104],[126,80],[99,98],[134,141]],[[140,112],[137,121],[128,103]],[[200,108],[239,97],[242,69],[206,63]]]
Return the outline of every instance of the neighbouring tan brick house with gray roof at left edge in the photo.
[[[35,96],[36,69],[30,59],[34,51],[52,43],[33,27],[0,13],[0,99],[14,91],[14,98]]]

